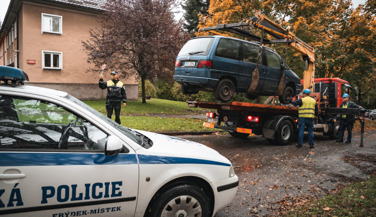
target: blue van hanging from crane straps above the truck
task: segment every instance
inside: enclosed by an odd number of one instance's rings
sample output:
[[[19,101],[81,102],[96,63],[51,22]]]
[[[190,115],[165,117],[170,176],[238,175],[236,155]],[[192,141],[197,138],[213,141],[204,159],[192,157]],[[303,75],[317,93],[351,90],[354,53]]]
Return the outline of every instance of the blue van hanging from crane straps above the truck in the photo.
[[[259,44],[226,36],[203,36],[188,40],[175,61],[173,80],[181,84],[184,94],[200,90],[213,91],[220,101],[229,101],[235,92],[247,98],[275,95],[283,73],[283,59],[273,49],[262,46],[256,89],[248,94],[252,72],[257,66]],[[285,87],[279,100],[301,91],[300,78],[285,67]]]

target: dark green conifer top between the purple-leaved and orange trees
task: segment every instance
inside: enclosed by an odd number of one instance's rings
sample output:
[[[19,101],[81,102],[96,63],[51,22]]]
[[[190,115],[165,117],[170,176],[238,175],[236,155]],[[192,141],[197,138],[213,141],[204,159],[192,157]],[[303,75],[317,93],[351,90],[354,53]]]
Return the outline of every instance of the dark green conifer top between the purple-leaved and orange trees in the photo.
[[[185,19],[184,27],[189,33],[197,30],[199,24],[199,13],[208,15],[210,0],[186,0],[181,7],[185,10],[183,17]]]

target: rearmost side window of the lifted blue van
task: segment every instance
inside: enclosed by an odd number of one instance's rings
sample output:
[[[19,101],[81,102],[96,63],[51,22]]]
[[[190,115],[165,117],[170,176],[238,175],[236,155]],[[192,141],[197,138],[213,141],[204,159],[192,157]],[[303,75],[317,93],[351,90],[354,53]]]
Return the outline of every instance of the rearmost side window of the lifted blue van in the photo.
[[[216,55],[226,58],[239,59],[240,41],[221,38],[218,43]]]

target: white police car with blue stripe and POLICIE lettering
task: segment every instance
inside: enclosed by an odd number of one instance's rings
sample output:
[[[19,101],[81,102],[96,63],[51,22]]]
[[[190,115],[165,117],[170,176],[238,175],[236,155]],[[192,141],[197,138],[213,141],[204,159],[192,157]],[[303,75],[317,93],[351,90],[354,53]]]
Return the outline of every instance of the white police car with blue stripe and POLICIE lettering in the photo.
[[[0,66],[0,215],[212,216],[234,198],[217,151],[122,127],[25,76]]]

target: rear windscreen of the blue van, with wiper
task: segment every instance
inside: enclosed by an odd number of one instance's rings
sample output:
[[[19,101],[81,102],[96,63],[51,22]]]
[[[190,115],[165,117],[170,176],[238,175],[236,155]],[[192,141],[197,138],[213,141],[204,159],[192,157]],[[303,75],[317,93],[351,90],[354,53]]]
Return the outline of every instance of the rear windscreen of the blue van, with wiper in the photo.
[[[198,37],[187,41],[181,48],[179,56],[208,55],[213,44],[214,37]]]

